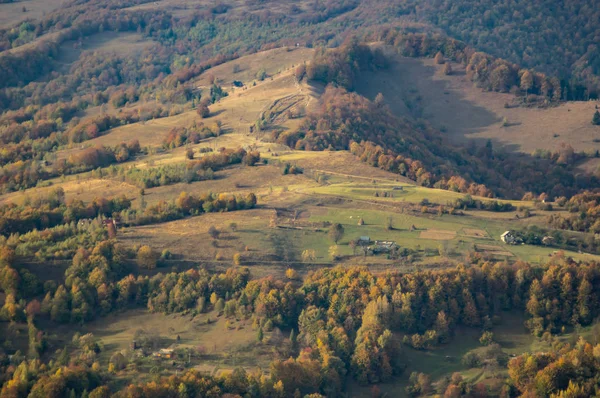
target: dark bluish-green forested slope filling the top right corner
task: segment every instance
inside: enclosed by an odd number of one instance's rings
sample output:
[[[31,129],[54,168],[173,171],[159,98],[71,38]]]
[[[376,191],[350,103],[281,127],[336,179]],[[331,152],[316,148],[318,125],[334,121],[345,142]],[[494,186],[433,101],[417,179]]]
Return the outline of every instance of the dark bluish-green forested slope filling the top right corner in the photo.
[[[580,82],[564,93],[565,99],[598,97],[600,9],[595,0],[407,0],[404,11],[481,51]]]

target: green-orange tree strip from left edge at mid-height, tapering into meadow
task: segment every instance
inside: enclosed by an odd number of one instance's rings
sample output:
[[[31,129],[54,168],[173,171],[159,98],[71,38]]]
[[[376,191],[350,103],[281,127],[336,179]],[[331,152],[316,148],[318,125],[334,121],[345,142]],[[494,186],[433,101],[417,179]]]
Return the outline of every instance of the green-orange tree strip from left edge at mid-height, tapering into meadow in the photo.
[[[143,202],[143,196],[140,198]],[[106,219],[121,220],[124,225],[141,225],[181,219],[204,212],[234,211],[256,206],[256,196],[182,193],[173,203],[131,208],[125,196],[65,201],[56,188],[46,196],[26,198],[23,204],[0,206],[0,245],[11,256],[38,260],[70,259],[78,248],[93,248],[98,242],[114,238],[116,230]]]

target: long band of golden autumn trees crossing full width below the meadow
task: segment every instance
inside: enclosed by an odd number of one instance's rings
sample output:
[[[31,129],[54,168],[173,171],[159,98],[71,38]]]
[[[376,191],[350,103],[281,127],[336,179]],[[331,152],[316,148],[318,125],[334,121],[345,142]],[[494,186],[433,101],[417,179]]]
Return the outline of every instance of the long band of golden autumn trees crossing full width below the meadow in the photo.
[[[183,206],[191,200],[182,194],[178,202]],[[315,271],[295,286],[272,277],[252,280],[248,269],[239,267],[221,274],[191,269],[127,276],[125,259],[132,255],[108,241],[79,250],[64,284],[46,283],[39,305],[35,295],[19,290],[19,276],[4,260],[1,286],[7,300],[0,312],[5,319],[23,321],[37,309],[35,319],[59,323],[87,322],[136,306],[254,317],[258,325],[269,322],[295,331],[295,354],[271,365],[271,388],[281,382],[277,388],[286,396],[296,390],[339,395],[346,374],[360,383],[390,380],[404,367],[400,333],[407,336],[404,344],[421,349],[450,341],[460,325],[489,330],[502,322],[505,311],[526,314],[526,326],[537,336],[589,325],[600,315],[598,264],[560,256],[546,266],[482,262],[412,274],[337,267]]]

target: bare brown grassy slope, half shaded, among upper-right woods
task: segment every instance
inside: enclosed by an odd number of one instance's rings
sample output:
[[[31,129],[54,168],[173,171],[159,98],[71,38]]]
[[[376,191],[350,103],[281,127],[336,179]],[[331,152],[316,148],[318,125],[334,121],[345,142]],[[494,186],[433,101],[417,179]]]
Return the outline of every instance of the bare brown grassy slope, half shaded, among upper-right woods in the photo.
[[[431,59],[396,57],[388,70],[365,73],[357,91],[368,98],[382,93],[386,103],[400,115],[427,119],[464,144],[492,139],[508,149],[531,153],[556,150],[569,143],[578,151],[600,149],[600,129],[591,118],[597,102],[566,102],[547,109],[505,108],[514,96],[482,92],[465,76],[464,66],[452,64],[446,76],[443,65]],[[502,126],[502,119],[509,126]]]

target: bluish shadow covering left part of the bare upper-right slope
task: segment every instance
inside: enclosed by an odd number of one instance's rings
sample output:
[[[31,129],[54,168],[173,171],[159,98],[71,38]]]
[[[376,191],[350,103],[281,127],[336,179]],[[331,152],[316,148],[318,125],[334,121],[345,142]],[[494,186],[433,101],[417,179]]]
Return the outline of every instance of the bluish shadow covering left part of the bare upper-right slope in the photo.
[[[427,120],[452,142],[485,144],[485,139],[469,136],[500,123],[501,119],[467,100],[459,90],[451,88],[448,81],[435,79],[434,75],[435,68],[419,59],[396,58],[386,70],[362,74],[356,91],[370,100],[378,93],[383,94],[394,114]]]

